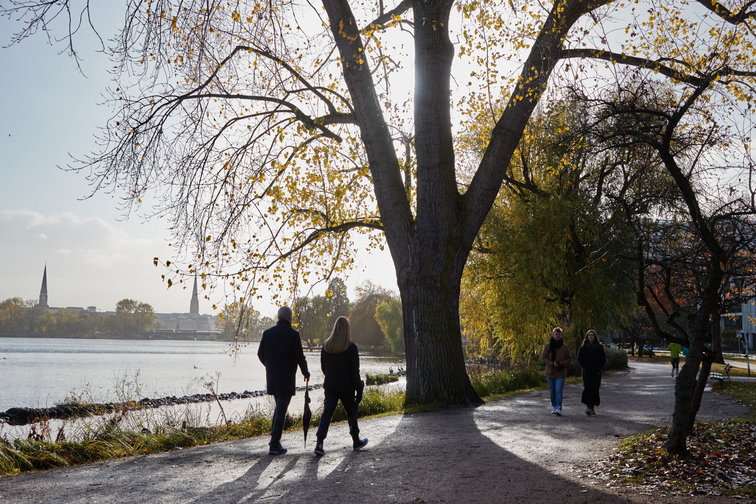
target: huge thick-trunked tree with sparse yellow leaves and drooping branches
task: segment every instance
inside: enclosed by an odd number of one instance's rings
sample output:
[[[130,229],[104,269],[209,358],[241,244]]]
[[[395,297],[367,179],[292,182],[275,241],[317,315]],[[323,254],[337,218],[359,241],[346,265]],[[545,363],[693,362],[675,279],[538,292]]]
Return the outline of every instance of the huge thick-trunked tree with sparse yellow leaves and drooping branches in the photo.
[[[172,219],[179,266],[166,265],[242,298],[263,284],[293,296],[352,264],[355,233],[385,237],[408,395],[478,403],[460,279],[528,118],[554,75],[602,79],[619,64],[679,82],[711,61],[727,67],[720,76],[750,70],[740,48],[751,4],[699,1],[127,2],[109,50],[115,113],[77,168],[91,167],[97,190],[123,190],[127,206],[163,196],[156,212]],[[9,3],[27,23],[17,39],[70,6]],[[627,42],[616,41],[623,28]],[[452,119],[495,110],[460,184]]]

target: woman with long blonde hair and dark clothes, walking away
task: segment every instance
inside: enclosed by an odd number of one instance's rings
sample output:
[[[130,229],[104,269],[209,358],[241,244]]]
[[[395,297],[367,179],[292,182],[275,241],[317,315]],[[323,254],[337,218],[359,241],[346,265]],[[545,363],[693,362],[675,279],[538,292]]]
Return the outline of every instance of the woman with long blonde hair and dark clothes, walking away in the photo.
[[[352,434],[352,447],[359,450],[367,444],[367,438],[360,439],[360,429],[357,426],[357,404],[362,400],[364,382],[360,379],[360,354],[357,345],[352,343],[349,332],[349,320],[339,317],[333,324],[330,337],[323,344],[321,350],[321,369],[326,376],[323,388],[326,394],[323,405],[323,416],[318,425],[318,442],[315,444],[315,455],[325,455],[323,442],[328,435],[333,412],[336,405],[341,404],[349,419],[349,434]],[[356,394],[356,397],[355,397]]]

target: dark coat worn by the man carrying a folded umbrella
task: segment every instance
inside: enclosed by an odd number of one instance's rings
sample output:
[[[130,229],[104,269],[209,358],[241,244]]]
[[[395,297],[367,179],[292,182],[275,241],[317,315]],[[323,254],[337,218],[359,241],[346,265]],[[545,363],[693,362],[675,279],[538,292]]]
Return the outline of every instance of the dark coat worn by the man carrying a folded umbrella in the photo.
[[[296,393],[297,364],[302,374],[309,375],[299,332],[287,320],[279,320],[274,327],[262,333],[257,357],[265,366],[268,394],[291,396]]]

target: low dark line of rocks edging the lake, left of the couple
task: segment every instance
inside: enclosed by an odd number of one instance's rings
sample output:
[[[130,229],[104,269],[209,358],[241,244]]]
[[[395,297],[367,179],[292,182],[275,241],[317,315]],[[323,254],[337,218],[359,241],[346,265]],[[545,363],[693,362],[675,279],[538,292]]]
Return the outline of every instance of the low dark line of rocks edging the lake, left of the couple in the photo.
[[[318,383],[316,385],[310,385],[310,390],[317,390],[323,388],[323,385]],[[305,391],[305,387],[297,387],[297,391]],[[56,404],[51,408],[10,408],[5,412],[0,412],[0,424],[8,425],[27,425],[30,423],[39,422],[40,420],[49,419],[67,419],[73,416],[91,416],[91,415],[104,415],[105,413],[112,413],[116,410],[150,410],[153,408],[159,408],[161,406],[172,406],[176,404],[192,404],[212,402],[214,400],[234,400],[234,399],[246,399],[247,397],[262,397],[268,395],[267,391],[243,391],[240,394],[237,392],[231,392],[229,394],[193,394],[184,395],[181,397],[166,396],[158,397],[156,399],[150,399],[144,397],[144,399],[138,401],[126,401],[124,403],[102,403],[102,404]]]

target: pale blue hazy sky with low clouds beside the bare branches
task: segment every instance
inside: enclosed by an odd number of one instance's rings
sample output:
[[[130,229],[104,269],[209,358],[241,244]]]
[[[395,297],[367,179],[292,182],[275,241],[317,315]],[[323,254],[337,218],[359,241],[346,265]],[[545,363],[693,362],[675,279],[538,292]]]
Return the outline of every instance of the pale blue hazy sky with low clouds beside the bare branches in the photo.
[[[95,26],[104,38],[111,36],[118,27],[113,23],[122,20],[122,0],[92,5]],[[11,31],[14,25],[0,20],[2,44]],[[85,174],[57,168],[70,155],[94,150],[93,135],[109,116],[98,103],[112,65],[96,52],[91,31],[82,30],[76,45],[85,76],[67,54],[58,54],[64,45],[48,45],[43,34],[0,48],[0,299],[38,298],[47,263],[51,306],[107,311],[119,299],[136,298],[158,312],[188,311],[191,287],[166,289],[163,271],[153,266],[153,257],[169,258],[165,222],[122,220],[117,194],[81,200],[88,196]],[[350,288],[367,279],[397,289],[388,248],[358,259]],[[221,299],[218,292],[212,301]],[[212,313],[211,307],[200,300],[200,312]],[[265,304],[256,308],[274,311]]]

